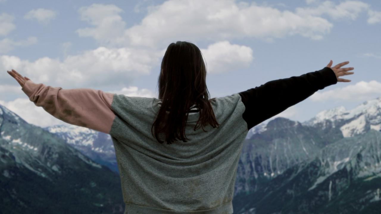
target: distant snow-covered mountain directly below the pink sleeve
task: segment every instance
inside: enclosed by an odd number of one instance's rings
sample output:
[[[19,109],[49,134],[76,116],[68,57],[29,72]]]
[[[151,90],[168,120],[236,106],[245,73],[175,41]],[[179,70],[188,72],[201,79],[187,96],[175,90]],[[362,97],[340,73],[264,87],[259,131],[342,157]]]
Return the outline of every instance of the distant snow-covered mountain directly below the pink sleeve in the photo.
[[[43,129],[63,139],[96,163],[119,173],[114,145],[109,134],[70,124],[48,126]]]

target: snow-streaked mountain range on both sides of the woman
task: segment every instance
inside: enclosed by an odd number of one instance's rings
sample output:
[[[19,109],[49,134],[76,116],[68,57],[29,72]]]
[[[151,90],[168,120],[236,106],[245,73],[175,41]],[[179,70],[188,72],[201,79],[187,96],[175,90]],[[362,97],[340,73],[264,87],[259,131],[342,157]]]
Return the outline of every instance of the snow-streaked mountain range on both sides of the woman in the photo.
[[[123,210],[109,135],[72,125],[40,128],[1,105],[0,110],[0,191],[6,194],[1,206],[12,201],[14,206],[24,203],[41,209],[42,201],[56,204],[57,198],[62,206],[74,203],[73,196],[62,202],[63,197],[84,188],[75,194],[90,199],[78,199],[78,209]],[[243,142],[234,213],[381,213],[380,129],[381,97],[351,110],[344,106],[323,110],[303,123],[277,117],[256,125]],[[31,178],[29,182],[25,177]],[[45,183],[50,184],[48,189],[43,188]],[[66,191],[56,193],[61,188]],[[34,206],[35,198],[28,198],[32,193],[41,196]]]

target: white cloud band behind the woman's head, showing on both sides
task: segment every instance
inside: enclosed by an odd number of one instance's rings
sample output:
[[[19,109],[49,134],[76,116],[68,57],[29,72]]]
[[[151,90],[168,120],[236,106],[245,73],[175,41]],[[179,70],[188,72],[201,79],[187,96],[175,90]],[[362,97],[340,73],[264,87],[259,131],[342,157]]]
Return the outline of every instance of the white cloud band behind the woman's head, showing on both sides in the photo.
[[[135,78],[149,75],[153,66],[160,67],[165,49],[152,51],[138,48],[105,48],[68,55],[63,61],[42,57],[34,62],[16,56],[0,56],[0,70],[14,69],[36,83],[61,87],[123,87]],[[227,41],[200,49],[208,73],[221,73],[245,68],[253,61],[250,47]],[[9,81],[6,72],[0,73],[0,84]],[[6,78],[5,78],[6,76]]]

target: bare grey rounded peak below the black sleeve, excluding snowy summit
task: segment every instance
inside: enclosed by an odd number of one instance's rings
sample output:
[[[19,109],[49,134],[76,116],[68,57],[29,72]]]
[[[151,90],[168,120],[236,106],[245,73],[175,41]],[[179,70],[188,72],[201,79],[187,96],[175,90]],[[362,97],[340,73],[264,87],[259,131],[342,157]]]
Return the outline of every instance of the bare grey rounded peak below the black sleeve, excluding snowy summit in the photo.
[[[255,191],[295,164],[314,157],[320,149],[342,139],[339,129],[304,126],[298,121],[278,117],[266,130],[243,144],[234,195]]]

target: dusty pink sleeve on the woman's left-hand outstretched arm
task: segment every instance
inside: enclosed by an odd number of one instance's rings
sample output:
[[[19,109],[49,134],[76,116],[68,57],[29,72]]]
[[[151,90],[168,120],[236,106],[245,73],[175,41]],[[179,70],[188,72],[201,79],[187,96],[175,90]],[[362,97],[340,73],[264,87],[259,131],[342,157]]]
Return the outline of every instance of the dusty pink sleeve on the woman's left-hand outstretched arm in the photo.
[[[115,114],[111,109],[114,94],[88,88],[62,89],[27,80],[22,91],[36,106],[72,125],[109,134]]]

